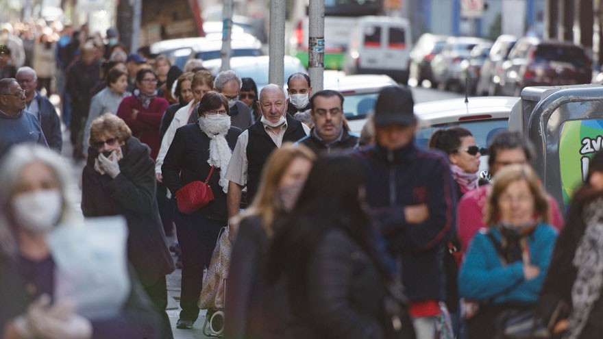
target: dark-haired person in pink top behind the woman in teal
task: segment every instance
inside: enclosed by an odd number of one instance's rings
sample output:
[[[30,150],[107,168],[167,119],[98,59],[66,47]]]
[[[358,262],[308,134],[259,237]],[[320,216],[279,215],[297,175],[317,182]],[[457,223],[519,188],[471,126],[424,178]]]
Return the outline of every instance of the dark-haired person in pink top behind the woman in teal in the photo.
[[[488,166],[490,175],[494,175],[508,165],[529,164],[532,158],[532,150],[528,141],[521,133],[515,131],[500,131],[492,138],[488,149]],[[460,241],[461,252],[467,250],[469,242],[476,232],[485,227],[484,205],[489,191],[489,185],[483,185],[476,190],[471,190],[463,195],[458,201],[458,221],[456,223],[456,234]],[[550,221],[556,229],[563,227],[563,216],[559,212],[558,205],[553,197],[548,196],[550,205]]]

